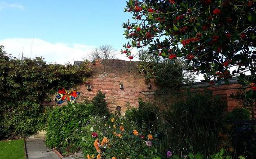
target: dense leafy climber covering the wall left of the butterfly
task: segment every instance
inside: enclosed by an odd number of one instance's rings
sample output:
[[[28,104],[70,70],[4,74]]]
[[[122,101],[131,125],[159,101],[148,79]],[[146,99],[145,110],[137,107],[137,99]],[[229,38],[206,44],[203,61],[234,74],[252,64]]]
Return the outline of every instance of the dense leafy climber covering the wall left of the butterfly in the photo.
[[[44,108],[58,88],[69,89],[90,75],[88,63],[48,64],[42,58],[16,59],[0,46],[0,138],[28,136],[44,127]],[[43,121],[45,123],[45,121]]]

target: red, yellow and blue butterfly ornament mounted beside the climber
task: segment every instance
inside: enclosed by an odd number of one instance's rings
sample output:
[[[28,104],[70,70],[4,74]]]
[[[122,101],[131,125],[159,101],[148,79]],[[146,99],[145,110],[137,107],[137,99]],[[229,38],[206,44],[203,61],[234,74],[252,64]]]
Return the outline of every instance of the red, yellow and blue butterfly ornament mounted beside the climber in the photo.
[[[79,97],[80,92],[77,90],[68,92],[66,89],[61,88],[58,90],[58,94],[55,96],[55,101],[57,104],[62,104],[63,102],[70,101],[71,104],[75,103],[76,99]]]

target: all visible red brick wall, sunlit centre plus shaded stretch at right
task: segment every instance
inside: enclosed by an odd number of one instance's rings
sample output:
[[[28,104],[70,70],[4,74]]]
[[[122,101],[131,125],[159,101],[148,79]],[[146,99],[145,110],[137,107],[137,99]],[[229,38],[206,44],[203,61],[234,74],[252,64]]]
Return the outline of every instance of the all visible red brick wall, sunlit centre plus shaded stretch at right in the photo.
[[[127,102],[130,102],[131,107],[138,106],[138,99],[144,100],[158,100],[160,102],[173,102],[172,96],[168,94],[154,97],[152,93],[158,89],[153,81],[146,82],[144,75],[138,73],[138,62],[130,62],[117,59],[109,60],[96,60],[89,67],[92,69],[92,75],[87,82],[77,85],[77,89],[81,91],[81,95],[78,102],[84,100],[91,100],[96,96],[100,90],[106,93],[106,101],[111,112],[116,110],[117,106],[121,106],[122,112],[127,109]],[[152,88],[148,88],[148,83],[152,84]],[[87,90],[87,85],[92,85],[92,90]],[[119,88],[119,84],[124,84],[124,89]],[[203,86],[199,86],[202,83],[196,84],[197,88],[192,91],[203,92]],[[208,84],[204,84],[208,85]],[[198,87],[199,86],[199,87]],[[230,98],[230,94],[236,93],[240,88],[239,84],[221,85],[217,87],[209,87],[213,91],[213,94],[224,95],[227,99],[228,111],[233,110],[239,106],[238,101]],[[185,89],[181,88],[180,92],[184,92]],[[53,105],[55,102],[51,102]],[[44,105],[50,105],[45,103]]]

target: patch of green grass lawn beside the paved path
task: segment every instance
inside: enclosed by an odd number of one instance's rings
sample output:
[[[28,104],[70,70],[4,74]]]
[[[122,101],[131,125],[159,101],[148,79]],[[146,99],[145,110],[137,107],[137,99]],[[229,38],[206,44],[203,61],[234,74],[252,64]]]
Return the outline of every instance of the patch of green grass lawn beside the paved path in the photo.
[[[0,141],[0,159],[26,159],[24,139]]]

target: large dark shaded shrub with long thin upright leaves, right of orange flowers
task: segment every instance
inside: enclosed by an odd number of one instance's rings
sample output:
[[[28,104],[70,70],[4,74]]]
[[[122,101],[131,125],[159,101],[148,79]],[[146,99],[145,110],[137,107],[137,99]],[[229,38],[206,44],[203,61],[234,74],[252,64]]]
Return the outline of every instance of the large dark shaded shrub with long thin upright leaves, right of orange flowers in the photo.
[[[183,100],[169,105],[162,112],[163,124],[158,130],[164,134],[159,151],[172,150],[176,155],[191,151],[205,156],[215,154],[225,109],[225,102],[210,92],[188,93]]]

